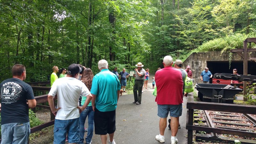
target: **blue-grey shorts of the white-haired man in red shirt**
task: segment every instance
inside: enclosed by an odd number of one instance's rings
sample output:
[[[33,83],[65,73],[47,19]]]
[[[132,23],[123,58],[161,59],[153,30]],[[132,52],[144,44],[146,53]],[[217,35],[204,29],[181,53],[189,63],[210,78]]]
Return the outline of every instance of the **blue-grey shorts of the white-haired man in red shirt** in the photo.
[[[182,104],[179,105],[157,105],[157,116],[161,118],[168,117],[170,112],[171,117],[179,117],[182,114]]]

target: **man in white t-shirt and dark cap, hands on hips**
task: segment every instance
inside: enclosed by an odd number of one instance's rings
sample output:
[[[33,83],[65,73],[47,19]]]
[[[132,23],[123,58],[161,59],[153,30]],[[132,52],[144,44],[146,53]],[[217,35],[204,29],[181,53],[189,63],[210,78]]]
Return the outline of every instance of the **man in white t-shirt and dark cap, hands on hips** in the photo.
[[[65,143],[68,132],[68,143],[79,141],[79,116],[92,99],[92,95],[84,83],[76,77],[81,71],[77,64],[68,66],[66,77],[57,79],[48,94],[48,102],[52,113],[56,116],[54,122],[54,144]],[[83,107],[79,107],[79,97],[86,96]],[[57,108],[54,106],[54,97],[58,96]]]

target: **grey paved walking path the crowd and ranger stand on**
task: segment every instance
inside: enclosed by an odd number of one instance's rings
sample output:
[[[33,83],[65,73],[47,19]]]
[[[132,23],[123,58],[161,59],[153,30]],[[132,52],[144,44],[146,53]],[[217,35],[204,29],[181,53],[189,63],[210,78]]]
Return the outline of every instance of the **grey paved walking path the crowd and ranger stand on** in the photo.
[[[152,76],[152,75],[151,75]],[[133,94],[122,95],[118,100],[116,108],[116,132],[114,139],[116,144],[160,144],[155,139],[159,134],[159,117],[157,116],[157,104],[155,96],[152,95],[152,78],[149,78],[148,88],[143,90],[141,105],[133,104]],[[152,76],[153,77],[153,76]],[[191,95],[193,96],[192,93]],[[177,139],[179,144],[187,143],[186,116],[187,116],[187,98],[183,98],[182,116],[180,116],[181,129],[178,130]],[[168,120],[168,119],[167,119]],[[167,121],[167,124],[168,121]],[[86,120],[85,126],[88,122]],[[84,138],[87,132],[85,132]],[[166,126],[165,143],[171,143],[171,130]],[[109,138],[108,138],[109,140]],[[93,132],[92,144],[101,144],[100,135]]]

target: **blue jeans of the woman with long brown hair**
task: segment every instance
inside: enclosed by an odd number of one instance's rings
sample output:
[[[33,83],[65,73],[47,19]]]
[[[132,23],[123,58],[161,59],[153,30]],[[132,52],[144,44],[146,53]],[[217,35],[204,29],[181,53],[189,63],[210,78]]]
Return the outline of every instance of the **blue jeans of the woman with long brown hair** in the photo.
[[[86,117],[88,116],[88,132],[87,137],[85,138],[86,143],[91,143],[92,135],[93,135],[93,125],[94,125],[94,111],[92,110],[92,106],[88,106],[82,111],[80,114],[80,140],[79,144],[84,144],[84,123]]]

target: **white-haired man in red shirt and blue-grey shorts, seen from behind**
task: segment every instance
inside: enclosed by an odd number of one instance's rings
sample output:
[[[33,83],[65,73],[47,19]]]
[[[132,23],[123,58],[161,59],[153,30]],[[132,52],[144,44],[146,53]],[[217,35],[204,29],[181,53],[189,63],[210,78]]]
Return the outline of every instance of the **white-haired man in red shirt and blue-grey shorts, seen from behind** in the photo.
[[[157,70],[155,79],[157,87],[157,115],[160,117],[159,131],[160,134],[156,135],[156,140],[164,141],[164,131],[167,124],[167,117],[170,112],[171,116],[171,144],[178,142],[176,134],[178,132],[179,117],[182,113],[182,74],[179,69],[172,67],[172,57],[164,57],[164,68]]]

